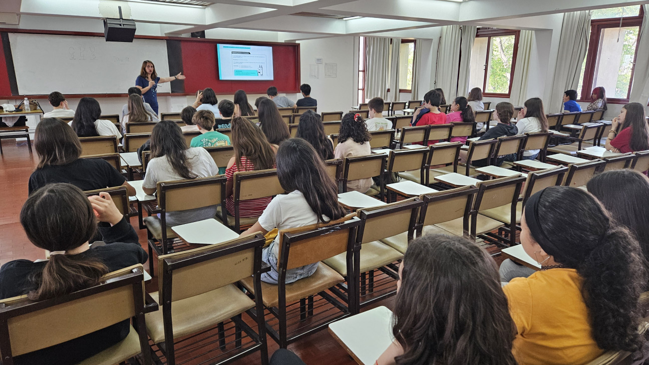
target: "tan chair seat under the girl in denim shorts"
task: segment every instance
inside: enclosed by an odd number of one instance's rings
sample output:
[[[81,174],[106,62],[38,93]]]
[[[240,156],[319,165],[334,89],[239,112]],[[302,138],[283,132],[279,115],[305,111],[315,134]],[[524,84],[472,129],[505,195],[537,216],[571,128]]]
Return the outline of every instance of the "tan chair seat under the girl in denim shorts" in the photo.
[[[324,265],[318,264],[312,276],[304,277],[293,283],[286,284],[286,304],[293,303],[302,298],[317,294],[326,288],[333,287],[336,284],[342,283],[345,278],[340,276],[336,270]],[[254,285],[252,283],[252,276],[246,277],[239,281],[245,288],[254,294]],[[263,305],[266,307],[277,307],[279,305],[278,287],[276,284],[264,283],[262,281],[262,300]]]

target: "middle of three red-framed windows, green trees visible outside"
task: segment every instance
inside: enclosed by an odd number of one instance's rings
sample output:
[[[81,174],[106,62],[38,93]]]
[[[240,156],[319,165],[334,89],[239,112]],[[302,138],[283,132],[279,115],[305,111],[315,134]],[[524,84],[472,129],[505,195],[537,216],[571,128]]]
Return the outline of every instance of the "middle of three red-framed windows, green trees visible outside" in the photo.
[[[519,47],[519,30],[480,28],[471,49],[469,88],[483,94],[509,97]]]

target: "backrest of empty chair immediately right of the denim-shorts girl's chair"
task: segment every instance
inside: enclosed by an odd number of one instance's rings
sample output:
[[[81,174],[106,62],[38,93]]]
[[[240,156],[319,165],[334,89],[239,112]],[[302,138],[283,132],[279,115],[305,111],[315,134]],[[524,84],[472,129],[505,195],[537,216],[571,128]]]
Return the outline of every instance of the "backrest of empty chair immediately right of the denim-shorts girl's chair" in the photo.
[[[413,238],[419,207],[423,205],[419,198],[410,198],[387,206],[359,209],[356,214],[361,225],[356,233],[356,243],[365,244],[404,232],[408,232],[410,239]]]

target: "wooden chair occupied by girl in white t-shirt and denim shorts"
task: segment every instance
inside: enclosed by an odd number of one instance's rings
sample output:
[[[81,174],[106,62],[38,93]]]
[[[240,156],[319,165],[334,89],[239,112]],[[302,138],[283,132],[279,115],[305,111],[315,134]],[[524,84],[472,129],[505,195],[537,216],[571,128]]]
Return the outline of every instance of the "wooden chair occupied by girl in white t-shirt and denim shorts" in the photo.
[[[356,296],[347,295],[338,300],[325,291],[343,283],[345,279],[319,261],[346,253],[347,272],[351,273],[347,292],[356,292],[360,275],[354,267],[354,256],[360,250],[356,244],[359,225],[360,219],[356,218],[356,213],[352,213],[329,224],[279,231],[278,284],[262,282],[261,289],[263,305],[270,312],[270,318],[266,321],[267,333],[280,348],[286,348],[289,343],[315,333],[336,320],[356,314]],[[313,263],[318,263],[318,266],[312,276],[286,283],[286,270]],[[252,295],[258,293],[252,285],[252,277],[240,283]],[[319,298],[316,300],[315,296]],[[332,307],[324,309],[327,303]],[[314,308],[319,310],[316,312]]]

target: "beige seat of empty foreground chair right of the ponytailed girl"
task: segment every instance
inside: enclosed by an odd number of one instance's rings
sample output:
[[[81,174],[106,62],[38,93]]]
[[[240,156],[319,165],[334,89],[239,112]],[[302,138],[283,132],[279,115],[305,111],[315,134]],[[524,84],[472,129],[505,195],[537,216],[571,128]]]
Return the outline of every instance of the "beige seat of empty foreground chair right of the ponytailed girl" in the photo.
[[[158,292],[151,297],[160,303]],[[197,296],[174,301],[171,307],[173,337],[197,333],[213,327],[228,318],[254,307],[254,301],[243,294],[234,284],[226,285]],[[165,340],[162,304],[160,310],[145,314],[147,333],[156,344]]]

